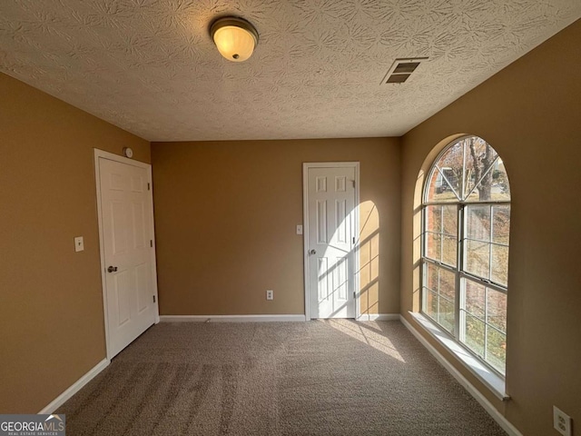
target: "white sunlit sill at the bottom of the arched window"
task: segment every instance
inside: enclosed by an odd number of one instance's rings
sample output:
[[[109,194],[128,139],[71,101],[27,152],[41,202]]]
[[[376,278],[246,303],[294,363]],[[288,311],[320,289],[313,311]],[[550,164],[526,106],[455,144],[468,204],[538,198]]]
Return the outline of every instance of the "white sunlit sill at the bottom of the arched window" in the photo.
[[[419,312],[409,312],[413,319],[430,334],[436,341],[446,347],[448,352],[451,352],[460,363],[464,365],[479,381],[482,381],[492,393],[497,396],[499,400],[507,401],[510,397],[506,392],[505,379],[493,372],[485,364],[479,362],[472,354],[464,350],[456,341],[448,337],[444,332],[441,332],[438,327],[424,315]]]

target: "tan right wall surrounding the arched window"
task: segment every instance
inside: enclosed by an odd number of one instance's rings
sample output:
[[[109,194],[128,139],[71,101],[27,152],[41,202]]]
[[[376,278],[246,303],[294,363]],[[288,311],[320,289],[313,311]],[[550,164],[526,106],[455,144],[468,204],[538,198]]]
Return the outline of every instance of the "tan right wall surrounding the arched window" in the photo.
[[[431,151],[431,163],[441,140],[467,133],[486,139],[506,163],[513,198],[507,309],[512,399],[494,402],[527,436],[556,434],[553,404],[581,423],[580,42],[577,21],[420,124],[402,144],[401,311],[408,320],[417,307],[414,195],[424,160]]]

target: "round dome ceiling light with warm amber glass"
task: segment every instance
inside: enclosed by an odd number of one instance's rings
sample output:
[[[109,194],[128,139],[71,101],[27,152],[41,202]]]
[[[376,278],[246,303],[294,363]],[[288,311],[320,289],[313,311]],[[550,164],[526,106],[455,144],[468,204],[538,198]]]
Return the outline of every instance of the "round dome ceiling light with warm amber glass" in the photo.
[[[235,16],[219,18],[210,26],[210,35],[222,56],[232,62],[251,57],[258,44],[258,32],[248,21]]]

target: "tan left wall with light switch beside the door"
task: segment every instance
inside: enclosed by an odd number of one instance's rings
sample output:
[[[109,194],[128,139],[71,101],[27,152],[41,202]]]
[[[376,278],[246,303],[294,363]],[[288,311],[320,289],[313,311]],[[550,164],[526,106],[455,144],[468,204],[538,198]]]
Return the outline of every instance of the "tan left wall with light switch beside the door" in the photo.
[[[5,74],[0,95],[0,413],[35,413],[105,357],[93,147],[150,150]]]

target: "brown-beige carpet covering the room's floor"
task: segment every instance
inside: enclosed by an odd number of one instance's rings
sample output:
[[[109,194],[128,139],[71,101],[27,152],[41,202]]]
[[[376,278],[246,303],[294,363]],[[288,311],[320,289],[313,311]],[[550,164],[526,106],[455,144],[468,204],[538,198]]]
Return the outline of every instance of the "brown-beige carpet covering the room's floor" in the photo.
[[[69,436],[506,434],[397,321],[160,323],[58,413]]]

